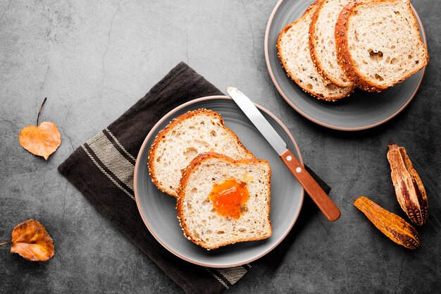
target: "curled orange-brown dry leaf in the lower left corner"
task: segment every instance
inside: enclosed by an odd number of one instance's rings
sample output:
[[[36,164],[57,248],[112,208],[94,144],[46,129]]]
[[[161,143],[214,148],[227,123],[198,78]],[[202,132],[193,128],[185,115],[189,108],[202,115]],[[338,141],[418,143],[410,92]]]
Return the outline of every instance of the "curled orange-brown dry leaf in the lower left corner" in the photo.
[[[54,256],[54,243],[41,223],[28,219],[13,229],[11,253],[31,262],[45,262]]]

